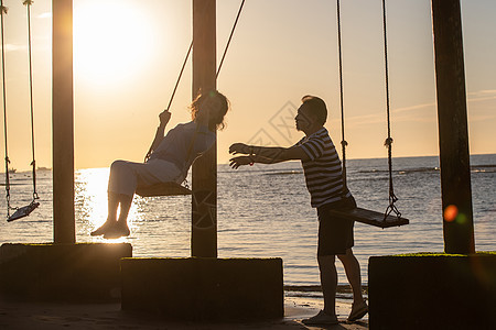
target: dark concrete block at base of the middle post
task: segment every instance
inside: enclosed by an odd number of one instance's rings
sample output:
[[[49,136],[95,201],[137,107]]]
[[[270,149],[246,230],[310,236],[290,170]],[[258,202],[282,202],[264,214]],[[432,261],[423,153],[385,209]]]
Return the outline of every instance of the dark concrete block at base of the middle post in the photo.
[[[179,320],[283,317],[281,258],[123,258],[122,309]]]

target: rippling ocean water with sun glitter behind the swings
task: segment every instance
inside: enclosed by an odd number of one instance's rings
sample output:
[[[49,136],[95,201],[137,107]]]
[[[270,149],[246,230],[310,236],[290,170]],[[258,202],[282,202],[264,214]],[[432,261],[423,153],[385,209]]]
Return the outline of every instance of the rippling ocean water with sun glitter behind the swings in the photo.
[[[473,155],[472,196],[477,251],[496,250],[496,154]],[[75,175],[77,242],[110,242],[90,231],[107,217],[108,168],[88,168]],[[387,160],[347,161],[348,187],[359,207],[382,212],[388,205]],[[53,241],[52,173],[36,172],[41,206],[30,217],[0,222],[0,243]],[[4,174],[0,175],[4,182]],[[380,229],[355,224],[354,252],[367,284],[373,255],[442,252],[442,210],[439,158],[393,158],[398,209],[410,224]],[[30,172],[11,174],[11,204],[32,199]],[[0,210],[7,216],[6,198]],[[310,207],[300,163],[248,166],[238,170],[218,165],[217,240],[219,257],[282,257],[287,286],[320,284],[316,264],[316,211]],[[136,197],[129,215],[129,242],[134,256],[187,257],[191,240],[191,197]],[[116,241],[112,241],[116,242]],[[336,263],[339,284],[344,270]]]

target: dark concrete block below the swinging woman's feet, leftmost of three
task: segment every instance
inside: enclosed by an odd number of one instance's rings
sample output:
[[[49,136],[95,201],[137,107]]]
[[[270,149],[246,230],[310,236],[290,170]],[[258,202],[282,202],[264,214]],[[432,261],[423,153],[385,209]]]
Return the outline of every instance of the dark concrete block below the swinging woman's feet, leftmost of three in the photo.
[[[132,256],[127,243],[2,244],[0,294],[10,299],[119,299],[125,256]]]

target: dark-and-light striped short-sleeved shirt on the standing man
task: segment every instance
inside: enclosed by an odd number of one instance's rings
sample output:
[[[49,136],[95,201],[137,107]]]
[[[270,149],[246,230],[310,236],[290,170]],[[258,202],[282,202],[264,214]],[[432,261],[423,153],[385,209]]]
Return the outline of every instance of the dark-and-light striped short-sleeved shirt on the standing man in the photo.
[[[342,165],[333,141],[325,128],[303,138],[295,145],[301,146],[309,161],[302,161],[312,207],[319,208],[349,197],[343,194]]]

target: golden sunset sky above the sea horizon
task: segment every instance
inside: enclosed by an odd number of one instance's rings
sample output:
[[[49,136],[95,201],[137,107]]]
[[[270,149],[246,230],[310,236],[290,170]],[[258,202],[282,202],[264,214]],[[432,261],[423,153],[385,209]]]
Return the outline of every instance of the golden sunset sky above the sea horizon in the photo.
[[[4,0],[6,102],[11,166],[31,163],[26,8]],[[74,0],[76,168],[143,160],[192,35],[192,1]],[[462,0],[470,150],[496,153],[496,1]],[[217,0],[220,59],[240,1]],[[50,0],[31,8],[37,166],[52,163]],[[347,157],[386,157],[386,90],[380,0],[342,0]],[[429,0],[387,1],[393,156],[438,155]],[[301,97],[322,97],[326,128],[341,141],[336,2],[247,0],[217,88],[230,100],[218,133],[218,163],[235,142],[290,146],[302,136]],[[169,128],[191,119],[191,62]],[[3,124],[3,120],[2,120]],[[4,153],[4,140],[1,153]]]

